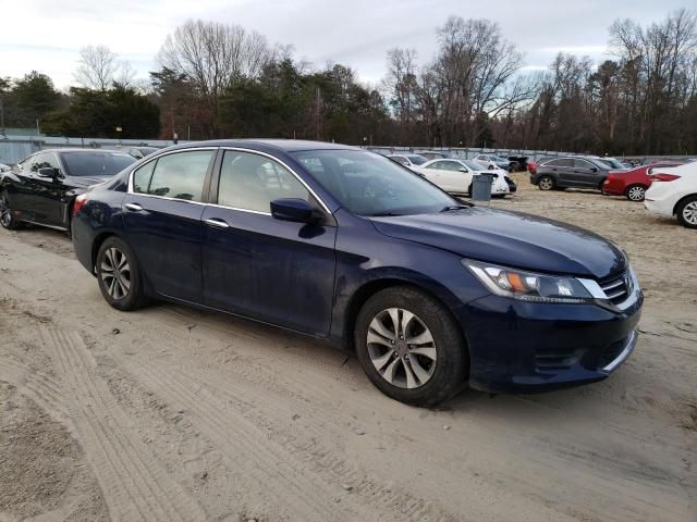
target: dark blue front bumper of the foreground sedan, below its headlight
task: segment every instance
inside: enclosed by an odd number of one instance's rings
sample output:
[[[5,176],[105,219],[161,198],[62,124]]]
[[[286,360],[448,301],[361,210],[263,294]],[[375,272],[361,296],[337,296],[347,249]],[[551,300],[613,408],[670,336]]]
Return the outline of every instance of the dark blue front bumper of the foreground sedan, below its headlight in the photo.
[[[458,319],[470,356],[469,384],[533,393],[606,378],[632,353],[644,296],[624,310],[602,303],[552,304],[487,296]]]

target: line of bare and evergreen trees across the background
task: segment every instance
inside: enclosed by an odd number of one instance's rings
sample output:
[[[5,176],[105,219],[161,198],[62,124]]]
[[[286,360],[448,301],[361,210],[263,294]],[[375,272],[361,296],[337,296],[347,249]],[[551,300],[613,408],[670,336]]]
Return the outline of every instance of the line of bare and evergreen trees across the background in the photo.
[[[101,46],[81,51],[69,92],[36,72],[0,79],[4,125],[143,139],[697,152],[694,11],[646,26],[614,21],[611,59],[596,66],[559,53],[543,72],[525,71],[523,53],[488,20],[450,16],[437,37],[425,63],[414,49],[391,49],[384,78],[370,86],[346,64],[317,70],[256,32],[189,20],[167,37],[148,80]]]

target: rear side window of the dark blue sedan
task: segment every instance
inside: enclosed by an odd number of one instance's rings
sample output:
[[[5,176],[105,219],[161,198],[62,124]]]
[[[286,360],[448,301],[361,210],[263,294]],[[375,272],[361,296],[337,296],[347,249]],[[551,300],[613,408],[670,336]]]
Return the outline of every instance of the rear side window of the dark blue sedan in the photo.
[[[133,191],[200,202],[213,153],[196,150],[163,156],[133,174]]]

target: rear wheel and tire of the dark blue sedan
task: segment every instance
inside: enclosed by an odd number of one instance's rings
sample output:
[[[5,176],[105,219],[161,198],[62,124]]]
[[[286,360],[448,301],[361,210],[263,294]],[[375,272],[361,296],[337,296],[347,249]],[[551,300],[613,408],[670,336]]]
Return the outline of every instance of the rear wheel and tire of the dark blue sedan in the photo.
[[[147,302],[138,261],[123,239],[111,236],[99,247],[97,281],[105,300],[117,310],[137,310]]]

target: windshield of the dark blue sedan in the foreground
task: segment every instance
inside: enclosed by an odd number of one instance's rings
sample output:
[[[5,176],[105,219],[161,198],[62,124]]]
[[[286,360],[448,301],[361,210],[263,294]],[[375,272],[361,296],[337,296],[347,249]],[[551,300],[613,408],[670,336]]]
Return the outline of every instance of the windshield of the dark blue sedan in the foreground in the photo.
[[[359,215],[439,212],[460,204],[418,174],[363,150],[309,150],[292,156],[342,206]]]

